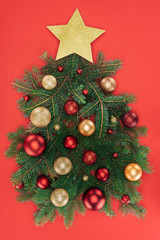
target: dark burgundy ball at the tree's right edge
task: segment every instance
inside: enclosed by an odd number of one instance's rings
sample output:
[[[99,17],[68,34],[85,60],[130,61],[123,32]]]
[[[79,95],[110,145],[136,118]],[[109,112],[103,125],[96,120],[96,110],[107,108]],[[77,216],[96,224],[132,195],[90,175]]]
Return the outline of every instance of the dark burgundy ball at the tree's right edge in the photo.
[[[129,111],[125,113],[122,118],[123,125],[129,128],[133,128],[137,126],[138,116],[135,112]]]

